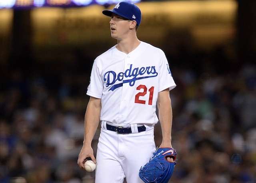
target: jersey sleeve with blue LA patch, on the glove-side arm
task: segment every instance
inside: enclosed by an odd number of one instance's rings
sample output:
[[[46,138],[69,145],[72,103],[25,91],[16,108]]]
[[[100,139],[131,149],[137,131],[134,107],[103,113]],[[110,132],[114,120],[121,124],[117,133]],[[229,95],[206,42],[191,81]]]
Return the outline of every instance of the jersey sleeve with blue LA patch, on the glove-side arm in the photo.
[[[176,87],[176,83],[172,77],[170,66],[166,55],[163,51],[160,52],[160,77],[159,77],[159,88],[158,92],[163,91],[169,88],[169,91]]]

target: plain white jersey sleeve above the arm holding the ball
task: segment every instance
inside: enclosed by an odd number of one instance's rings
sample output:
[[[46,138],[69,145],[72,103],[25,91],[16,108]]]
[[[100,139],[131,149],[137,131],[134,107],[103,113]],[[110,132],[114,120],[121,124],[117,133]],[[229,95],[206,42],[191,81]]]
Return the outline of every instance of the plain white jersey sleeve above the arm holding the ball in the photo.
[[[92,65],[92,72],[90,76],[90,84],[87,88],[86,94],[95,98],[102,98],[103,83],[100,76],[100,68],[97,66],[96,60]]]

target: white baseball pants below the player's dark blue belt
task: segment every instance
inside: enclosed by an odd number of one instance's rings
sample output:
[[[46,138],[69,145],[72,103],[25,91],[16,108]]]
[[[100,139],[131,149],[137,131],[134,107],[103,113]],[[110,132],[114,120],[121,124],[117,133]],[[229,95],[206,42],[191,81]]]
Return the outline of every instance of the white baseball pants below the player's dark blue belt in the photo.
[[[117,134],[101,128],[96,154],[95,183],[144,183],[139,170],[156,150],[154,128],[145,132]]]

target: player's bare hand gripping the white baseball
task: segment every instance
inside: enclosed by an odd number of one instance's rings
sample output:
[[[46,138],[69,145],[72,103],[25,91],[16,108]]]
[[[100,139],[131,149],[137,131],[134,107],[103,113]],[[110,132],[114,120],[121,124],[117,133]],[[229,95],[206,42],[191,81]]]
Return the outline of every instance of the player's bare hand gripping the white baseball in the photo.
[[[92,161],[96,164],[96,158],[94,157],[93,149],[91,146],[90,147],[83,146],[82,150],[78,155],[77,164],[82,169],[84,169],[84,163],[85,163],[86,157],[90,157]]]

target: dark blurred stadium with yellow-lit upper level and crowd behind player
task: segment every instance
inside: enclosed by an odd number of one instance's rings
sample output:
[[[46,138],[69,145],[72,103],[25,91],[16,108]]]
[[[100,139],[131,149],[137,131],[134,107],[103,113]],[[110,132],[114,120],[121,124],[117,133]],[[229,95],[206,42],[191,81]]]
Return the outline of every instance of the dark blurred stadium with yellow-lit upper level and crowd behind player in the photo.
[[[256,182],[256,1],[137,5],[139,39],[164,50],[177,83],[170,182]],[[0,183],[94,182],[76,160],[92,62],[116,43],[105,8],[0,9]]]

